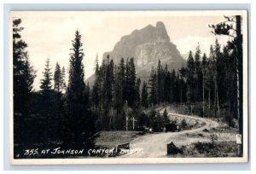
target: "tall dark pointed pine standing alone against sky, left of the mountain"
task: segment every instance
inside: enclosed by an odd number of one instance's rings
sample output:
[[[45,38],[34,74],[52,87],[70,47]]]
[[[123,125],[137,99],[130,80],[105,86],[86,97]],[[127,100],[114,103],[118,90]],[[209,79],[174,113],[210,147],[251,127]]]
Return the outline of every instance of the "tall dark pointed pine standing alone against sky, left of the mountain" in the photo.
[[[88,87],[84,84],[84,52],[81,35],[75,32],[70,54],[69,77],[67,85],[67,115],[64,127],[64,138],[76,147],[90,148],[94,145],[96,136],[95,115],[88,106]]]

